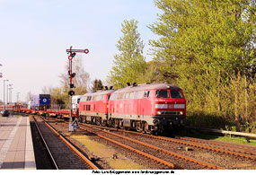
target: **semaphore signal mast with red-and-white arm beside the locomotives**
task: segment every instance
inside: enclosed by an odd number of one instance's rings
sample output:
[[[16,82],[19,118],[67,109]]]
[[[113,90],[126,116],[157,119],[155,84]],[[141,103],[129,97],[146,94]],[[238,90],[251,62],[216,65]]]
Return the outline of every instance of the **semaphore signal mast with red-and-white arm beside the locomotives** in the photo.
[[[88,54],[89,53],[89,49],[85,48],[85,49],[72,49],[72,46],[69,49],[66,49],[66,52],[68,54],[68,75],[69,75],[69,92],[68,95],[70,96],[70,119],[69,119],[69,131],[73,131],[73,127],[72,125],[72,96],[75,95],[75,91],[73,91],[73,88],[75,88],[74,83],[72,83],[72,78],[75,77],[75,73],[72,73],[72,60],[75,57],[76,53],[84,53],[84,54]]]

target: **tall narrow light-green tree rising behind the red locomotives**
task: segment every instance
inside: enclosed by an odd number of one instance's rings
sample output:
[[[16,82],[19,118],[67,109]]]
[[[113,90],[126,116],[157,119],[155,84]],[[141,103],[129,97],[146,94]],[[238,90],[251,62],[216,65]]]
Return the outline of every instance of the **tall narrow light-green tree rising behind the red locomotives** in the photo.
[[[108,82],[118,88],[126,83],[141,83],[141,74],[145,74],[146,61],[143,57],[143,41],[137,31],[136,20],[125,20],[121,26],[123,36],[116,45],[119,54],[114,56]]]

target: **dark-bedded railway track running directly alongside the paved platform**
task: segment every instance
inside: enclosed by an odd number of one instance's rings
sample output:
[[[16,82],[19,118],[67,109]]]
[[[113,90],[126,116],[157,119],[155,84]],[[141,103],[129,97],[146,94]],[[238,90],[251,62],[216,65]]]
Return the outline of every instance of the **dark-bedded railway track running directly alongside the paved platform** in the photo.
[[[99,168],[87,159],[83,153],[70,144],[64,136],[49,126],[41,118],[31,117],[39,129],[54,169],[60,170],[98,170]],[[53,134],[54,133],[54,134]]]

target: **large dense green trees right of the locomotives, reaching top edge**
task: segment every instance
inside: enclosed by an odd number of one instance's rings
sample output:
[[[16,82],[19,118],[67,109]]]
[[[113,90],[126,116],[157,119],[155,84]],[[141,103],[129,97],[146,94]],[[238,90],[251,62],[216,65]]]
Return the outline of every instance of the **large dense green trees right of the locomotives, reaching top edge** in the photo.
[[[149,26],[160,36],[150,41],[154,59],[185,92],[188,113],[255,121],[255,0],[154,4],[163,11]]]

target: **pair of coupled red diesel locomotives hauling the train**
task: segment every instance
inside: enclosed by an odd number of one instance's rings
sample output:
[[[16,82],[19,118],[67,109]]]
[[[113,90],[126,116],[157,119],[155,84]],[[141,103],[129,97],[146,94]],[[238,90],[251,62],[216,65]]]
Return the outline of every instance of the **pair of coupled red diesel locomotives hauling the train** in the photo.
[[[166,83],[133,84],[119,90],[85,93],[81,122],[139,132],[161,133],[185,126],[186,100],[181,88]]]

